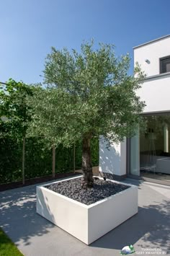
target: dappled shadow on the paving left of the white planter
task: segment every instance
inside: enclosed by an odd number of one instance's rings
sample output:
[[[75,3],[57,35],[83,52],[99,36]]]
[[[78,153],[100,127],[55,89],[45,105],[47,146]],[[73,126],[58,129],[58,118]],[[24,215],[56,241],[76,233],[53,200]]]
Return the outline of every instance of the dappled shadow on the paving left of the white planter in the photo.
[[[0,193],[0,226],[18,245],[50,232],[54,225],[36,213],[36,187],[21,187]]]

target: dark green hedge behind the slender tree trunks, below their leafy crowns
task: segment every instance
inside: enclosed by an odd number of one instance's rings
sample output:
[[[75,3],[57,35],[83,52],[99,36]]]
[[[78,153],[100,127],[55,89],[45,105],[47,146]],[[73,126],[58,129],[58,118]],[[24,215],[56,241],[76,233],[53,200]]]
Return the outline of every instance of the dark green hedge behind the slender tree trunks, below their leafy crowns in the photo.
[[[81,169],[81,141],[75,146],[76,169]],[[99,165],[99,140],[91,141],[93,166]],[[73,171],[73,148],[58,146],[55,151],[55,172]],[[52,150],[46,149],[42,138],[25,141],[25,179],[52,174]],[[0,138],[0,183],[22,180],[22,142]]]

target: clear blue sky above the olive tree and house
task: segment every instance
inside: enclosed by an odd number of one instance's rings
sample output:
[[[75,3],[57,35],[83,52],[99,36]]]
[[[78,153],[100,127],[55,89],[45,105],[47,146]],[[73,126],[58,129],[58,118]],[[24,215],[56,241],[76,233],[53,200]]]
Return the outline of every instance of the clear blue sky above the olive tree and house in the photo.
[[[170,34],[169,10],[169,0],[1,1],[0,81],[42,81],[51,46],[79,50],[92,37],[133,58],[133,46]]]

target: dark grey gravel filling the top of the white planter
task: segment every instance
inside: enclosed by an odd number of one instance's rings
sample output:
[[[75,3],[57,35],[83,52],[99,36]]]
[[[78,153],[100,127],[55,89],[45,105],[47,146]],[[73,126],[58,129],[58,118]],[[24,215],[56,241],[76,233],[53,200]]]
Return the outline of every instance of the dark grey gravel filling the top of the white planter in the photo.
[[[53,183],[45,187],[89,206],[91,203],[96,203],[99,200],[120,193],[130,186],[111,182],[109,180],[94,180],[94,187],[82,189],[81,178],[76,178],[73,180]]]

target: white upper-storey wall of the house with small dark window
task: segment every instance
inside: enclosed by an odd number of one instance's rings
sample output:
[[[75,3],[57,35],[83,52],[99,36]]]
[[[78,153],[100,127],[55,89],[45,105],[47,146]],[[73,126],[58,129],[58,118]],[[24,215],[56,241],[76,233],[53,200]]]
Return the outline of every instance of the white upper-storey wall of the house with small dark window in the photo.
[[[147,78],[137,92],[140,100],[146,102],[143,112],[170,110],[170,73],[160,74],[160,58],[170,56],[170,36],[134,48],[134,65],[140,64]],[[146,62],[148,60],[148,62]]]

